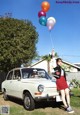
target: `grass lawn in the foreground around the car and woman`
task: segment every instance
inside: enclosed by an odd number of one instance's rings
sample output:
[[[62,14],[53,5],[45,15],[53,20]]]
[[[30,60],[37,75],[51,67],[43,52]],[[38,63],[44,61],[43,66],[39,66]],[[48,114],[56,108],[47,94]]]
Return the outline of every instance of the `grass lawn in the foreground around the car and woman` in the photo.
[[[71,96],[71,105],[74,109],[75,113],[72,115],[80,115],[80,89],[74,88],[72,89],[73,96]],[[3,98],[0,99],[0,101],[3,100]],[[66,111],[63,109],[63,105],[60,105],[60,103],[47,103],[44,102],[38,103],[38,107],[33,111],[27,111],[23,108],[22,104],[16,103],[16,101],[4,101],[3,103],[10,104],[10,114],[9,115],[69,115]]]

